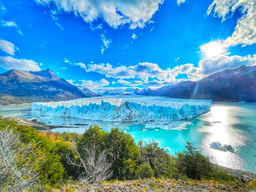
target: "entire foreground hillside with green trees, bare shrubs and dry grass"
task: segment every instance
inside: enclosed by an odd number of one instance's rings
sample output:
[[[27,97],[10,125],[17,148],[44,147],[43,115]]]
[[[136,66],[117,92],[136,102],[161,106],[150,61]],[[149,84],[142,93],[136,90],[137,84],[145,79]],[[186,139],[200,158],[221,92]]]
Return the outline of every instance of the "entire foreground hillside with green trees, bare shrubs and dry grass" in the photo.
[[[172,156],[155,141],[136,144],[118,128],[107,133],[91,125],[82,135],[60,134],[0,119],[0,146],[0,191],[246,191],[255,187],[255,182],[241,182],[212,165],[192,143]]]

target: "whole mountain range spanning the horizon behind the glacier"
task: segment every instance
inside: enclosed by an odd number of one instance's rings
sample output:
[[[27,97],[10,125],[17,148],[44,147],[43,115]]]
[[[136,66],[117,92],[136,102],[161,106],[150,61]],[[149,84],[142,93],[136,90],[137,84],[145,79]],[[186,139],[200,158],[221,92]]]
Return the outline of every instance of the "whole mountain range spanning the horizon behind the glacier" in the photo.
[[[74,86],[50,69],[24,72],[12,69],[0,74],[0,105],[71,100],[100,95],[150,95],[186,99],[210,99],[227,102],[256,102],[256,66],[227,69],[199,81],[185,81],[156,90],[104,90],[97,93]]]

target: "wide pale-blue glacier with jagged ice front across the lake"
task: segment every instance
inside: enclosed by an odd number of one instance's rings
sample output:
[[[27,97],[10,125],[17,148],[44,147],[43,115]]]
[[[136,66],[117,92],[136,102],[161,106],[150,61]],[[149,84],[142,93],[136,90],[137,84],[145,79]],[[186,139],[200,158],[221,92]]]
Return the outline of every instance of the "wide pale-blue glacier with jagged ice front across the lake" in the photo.
[[[149,96],[90,97],[60,102],[33,102],[44,115],[104,121],[173,121],[210,111],[212,100]]]

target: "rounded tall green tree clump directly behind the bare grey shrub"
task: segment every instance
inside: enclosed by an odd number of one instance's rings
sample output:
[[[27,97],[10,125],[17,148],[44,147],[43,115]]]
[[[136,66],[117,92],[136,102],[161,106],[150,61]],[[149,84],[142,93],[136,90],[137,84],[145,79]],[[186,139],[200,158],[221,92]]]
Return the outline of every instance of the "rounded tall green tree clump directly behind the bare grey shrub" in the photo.
[[[83,156],[82,147],[100,146],[108,150],[108,161],[112,164],[112,179],[133,179],[139,165],[138,146],[130,134],[112,128],[110,133],[101,131],[99,126],[91,125],[78,141],[78,151]]]

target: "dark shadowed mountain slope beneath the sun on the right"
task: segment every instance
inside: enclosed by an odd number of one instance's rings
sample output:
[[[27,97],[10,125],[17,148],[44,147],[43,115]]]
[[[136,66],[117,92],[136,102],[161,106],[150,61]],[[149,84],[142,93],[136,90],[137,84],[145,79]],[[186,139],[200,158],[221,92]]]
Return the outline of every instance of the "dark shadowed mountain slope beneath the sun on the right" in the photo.
[[[164,86],[146,95],[213,101],[256,102],[256,66],[242,65],[212,74],[197,82]]]

